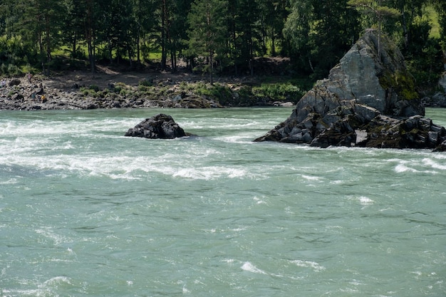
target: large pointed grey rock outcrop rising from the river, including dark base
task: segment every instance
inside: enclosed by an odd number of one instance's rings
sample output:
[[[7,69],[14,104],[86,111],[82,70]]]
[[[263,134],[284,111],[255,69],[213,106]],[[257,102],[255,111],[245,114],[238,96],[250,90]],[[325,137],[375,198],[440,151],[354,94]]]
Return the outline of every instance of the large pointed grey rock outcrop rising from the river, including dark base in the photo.
[[[299,100],[288,119],[254,141],[441,147],[446,130],[423,118],[425,110],[403,55],[387,38],[380,41],[380,56],[377,45],[375,33],[365,33],[328,78],[318,80]]]

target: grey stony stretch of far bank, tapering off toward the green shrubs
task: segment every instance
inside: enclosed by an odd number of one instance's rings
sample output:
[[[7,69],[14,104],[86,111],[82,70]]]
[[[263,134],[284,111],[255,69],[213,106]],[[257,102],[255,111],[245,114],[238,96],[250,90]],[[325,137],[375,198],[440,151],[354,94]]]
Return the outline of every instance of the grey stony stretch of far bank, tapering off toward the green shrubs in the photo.
[[[150,75],[69,73],[53,78],[6,80],[1,110],[73,110],[96,108],[220,108],[217,101],[180,88],[171,78]],[[107,77],[107,78],[105,78]]]

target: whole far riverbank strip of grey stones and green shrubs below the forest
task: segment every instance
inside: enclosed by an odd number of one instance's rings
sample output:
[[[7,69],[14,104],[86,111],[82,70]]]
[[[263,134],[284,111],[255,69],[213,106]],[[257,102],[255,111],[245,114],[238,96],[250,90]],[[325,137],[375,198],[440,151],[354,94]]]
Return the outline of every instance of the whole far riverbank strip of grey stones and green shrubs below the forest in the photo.
[[[96,108],[227,108],[294,106],[309,90],[308,78],[286,75],[288,61],[262,58],[263,75],[222,75],[213,84],[190,71],[97,66],[51,75],[4,79],[0,110],[73,110]]]

